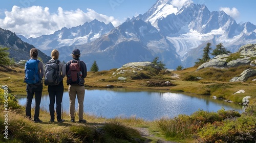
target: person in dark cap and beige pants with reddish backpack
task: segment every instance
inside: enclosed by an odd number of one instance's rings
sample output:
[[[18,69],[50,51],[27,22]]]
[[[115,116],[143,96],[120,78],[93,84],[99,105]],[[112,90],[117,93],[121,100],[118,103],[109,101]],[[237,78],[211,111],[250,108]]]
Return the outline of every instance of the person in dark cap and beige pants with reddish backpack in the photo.
[[[66,63],[67,84],[69,85],[69,114],[71,122],[75,122],[75,99],[78,100],[78,123],[86,123],[83,119],[83,100],[84,100],[84,78],[87,76],[86,63],[80,61],[80,51],[72,52],[73,60]]]

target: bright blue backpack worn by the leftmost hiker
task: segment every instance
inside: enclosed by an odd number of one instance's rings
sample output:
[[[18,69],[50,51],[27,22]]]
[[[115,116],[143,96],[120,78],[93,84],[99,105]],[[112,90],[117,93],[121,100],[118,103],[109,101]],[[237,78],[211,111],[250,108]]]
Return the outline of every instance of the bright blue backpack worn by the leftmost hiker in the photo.
[[[39,60],[29,59],[25,64],[25,79],[24,82],[28,84],[35,84],[41,81],[38,72]]]

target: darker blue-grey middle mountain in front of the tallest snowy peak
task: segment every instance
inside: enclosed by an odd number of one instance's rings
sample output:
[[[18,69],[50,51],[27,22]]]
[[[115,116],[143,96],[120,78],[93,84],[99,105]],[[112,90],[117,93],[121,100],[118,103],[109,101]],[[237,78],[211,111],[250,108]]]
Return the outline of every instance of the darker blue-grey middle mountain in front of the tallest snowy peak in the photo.
[[[150,22],[140,19],[126,21],[93,42],[60,47],[60,53],[66,53],[60,58],[70,60],[71,56],[68,55],[74,48],[80,49],[80,59],[86,61],[89,67],[96,60],[101,70],[120,67],[128,62],[152,61],[155,57],[164,60],[168,67],[181,65],[173,44]]]

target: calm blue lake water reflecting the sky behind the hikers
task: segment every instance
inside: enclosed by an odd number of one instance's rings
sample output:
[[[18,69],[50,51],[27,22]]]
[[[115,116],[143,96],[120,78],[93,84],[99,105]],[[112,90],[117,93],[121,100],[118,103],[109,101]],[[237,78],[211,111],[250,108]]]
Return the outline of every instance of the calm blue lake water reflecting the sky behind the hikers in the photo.
[[[19,99],[19,103],[25,105],[26,98]],[[48,95],[42,96],[40,107],[49,110]],[[237,104],[214,100],[208,96],[189,96],[183,93],[94,89],[86,90],[84,97],[84,112],[108,118],[136,115],[145,120],[154,120],[163,116],[190,115],[199,109],[216,112],[222,107],[225,110],[242,112],[242,107]],[[63,111],[69,112],[68,92],[63,94]]]

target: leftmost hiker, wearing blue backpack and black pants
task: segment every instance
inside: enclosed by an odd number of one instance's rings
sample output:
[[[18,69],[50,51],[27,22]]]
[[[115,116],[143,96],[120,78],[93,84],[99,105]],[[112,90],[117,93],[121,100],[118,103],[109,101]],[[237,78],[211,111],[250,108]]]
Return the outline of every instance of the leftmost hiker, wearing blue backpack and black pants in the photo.
[[[25,64],[25,80],[27,83],[27,103],[26,116],[31,119],[31,103],[35,94],[35,114],[34,122],[42,122],[39,119],[39,110],[42,96],[42,77],[44,77],[44,65],[37,60],[38,51],[33,48],[30,50],[30,57]]]

